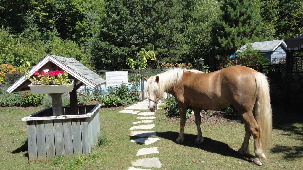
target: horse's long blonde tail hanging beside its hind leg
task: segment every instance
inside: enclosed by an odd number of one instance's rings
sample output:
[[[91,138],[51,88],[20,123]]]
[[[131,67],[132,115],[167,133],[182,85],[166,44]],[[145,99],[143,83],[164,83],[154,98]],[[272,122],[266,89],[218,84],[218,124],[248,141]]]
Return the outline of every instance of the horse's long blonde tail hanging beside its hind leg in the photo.
[[[260,140],[264,151],[268,149],[272,130],[272,111],[267,77],[255,72],[257,86],[257,101],[255,104],[255,119],[260,127]]]

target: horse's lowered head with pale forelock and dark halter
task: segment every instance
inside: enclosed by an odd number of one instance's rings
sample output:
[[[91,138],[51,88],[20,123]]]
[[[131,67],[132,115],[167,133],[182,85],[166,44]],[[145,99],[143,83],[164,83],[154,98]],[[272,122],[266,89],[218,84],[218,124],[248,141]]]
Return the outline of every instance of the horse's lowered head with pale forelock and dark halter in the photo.
[[[144,90],[148,92],[148,100],[149,100],[148,109],[151,110],[152,112],[156,112],[158,102],[163,96],[163,91],[159,86],[160,78],[158,75],[156,75],[149,78],[144,77],[144,79],[146,81],[146,86]]]

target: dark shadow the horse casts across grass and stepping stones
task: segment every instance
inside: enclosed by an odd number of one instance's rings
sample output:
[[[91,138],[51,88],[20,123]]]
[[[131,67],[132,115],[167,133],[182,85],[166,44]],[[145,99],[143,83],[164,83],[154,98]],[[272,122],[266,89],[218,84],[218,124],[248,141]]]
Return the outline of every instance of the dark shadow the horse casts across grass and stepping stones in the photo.
[[[179,135],[178,132],[168,131],[168,132],[156,132],[156,133],[157,133],[158,137],[171,140],[176,145],[194,147],[194,148],[198,148],[201,150],[205,150],[207,152],[216,153],[216,154],[220,154],[220,155],[224,155],[224,156],[230,156],[230,157],[242,159],[247,162],[252,162],[252,160],[250,160],[251,158],[253,158],[252,155],[241,156],[241,155],[239,155],[239,153],[237,151],[235,151],[234,149],[231,149],[226,143],[216,141],[216,140],[213,140],[213,139],[210,139],[207,137],[204,137],[204,142],[202,144],[197,145],[197,144],[195,144],[197,135],[184,134],[185,141],[181,144],[177,144],[176,139]],[[137,139],[137,138],[138,137],[130,137],[130,139]],[[138,144],[142,144],[142,143],[138,143]],[[202,152],[201,152],[201,154],[202,154]]]

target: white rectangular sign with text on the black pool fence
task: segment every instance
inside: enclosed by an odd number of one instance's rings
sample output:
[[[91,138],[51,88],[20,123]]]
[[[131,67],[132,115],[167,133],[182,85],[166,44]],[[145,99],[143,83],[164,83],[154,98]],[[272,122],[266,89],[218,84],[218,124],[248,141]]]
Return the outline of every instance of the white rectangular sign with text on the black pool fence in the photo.
[[[106,71],[106,86],[120,86],[122,83],[128,83],[127,71]]]

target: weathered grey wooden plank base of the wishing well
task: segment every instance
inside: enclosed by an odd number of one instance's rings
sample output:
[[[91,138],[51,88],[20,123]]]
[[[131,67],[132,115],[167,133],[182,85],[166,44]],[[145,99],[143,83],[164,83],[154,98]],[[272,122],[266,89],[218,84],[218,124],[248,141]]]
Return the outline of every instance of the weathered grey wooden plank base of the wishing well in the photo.
[[[70,106],[65,106],[62,116],[52,116],[52,107],[48,107],[22,118],[27,125],[29,160],[57,155],[89,157],[100,136],[100,106],[80,105],[78,113],[70,113]]]

